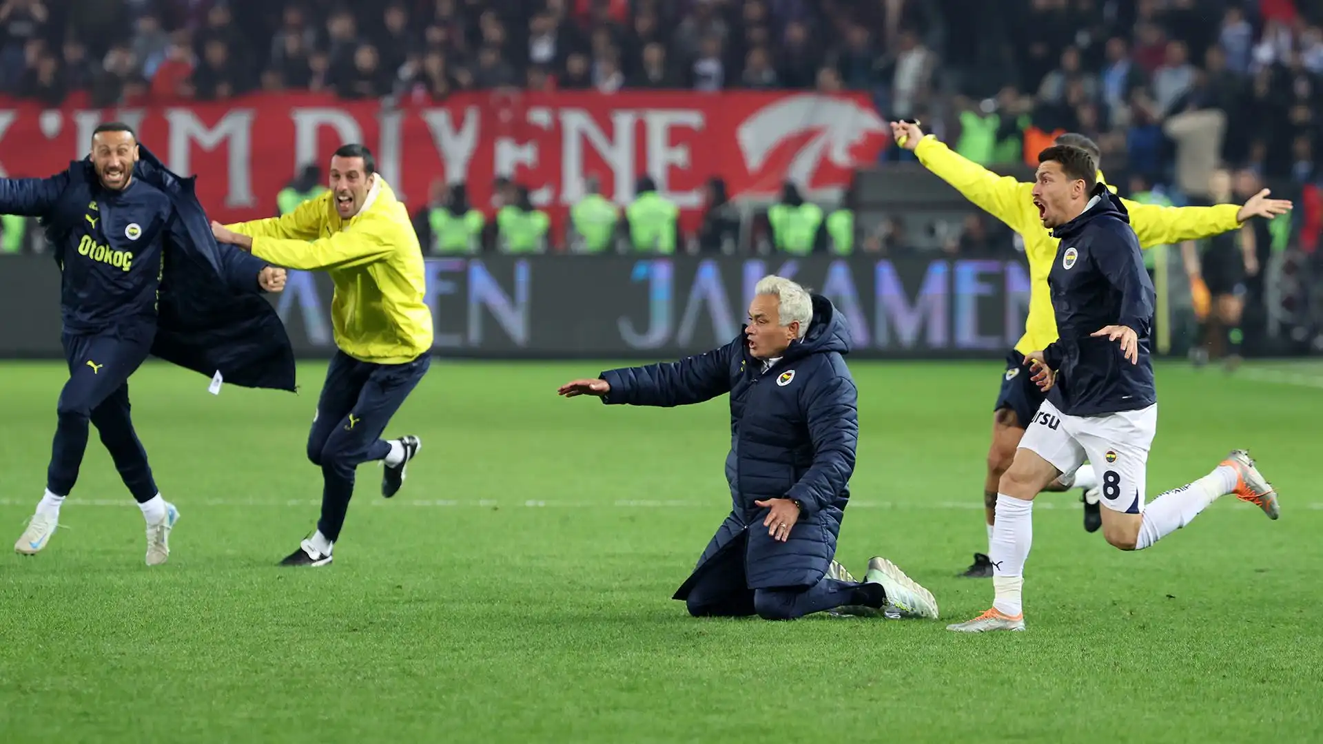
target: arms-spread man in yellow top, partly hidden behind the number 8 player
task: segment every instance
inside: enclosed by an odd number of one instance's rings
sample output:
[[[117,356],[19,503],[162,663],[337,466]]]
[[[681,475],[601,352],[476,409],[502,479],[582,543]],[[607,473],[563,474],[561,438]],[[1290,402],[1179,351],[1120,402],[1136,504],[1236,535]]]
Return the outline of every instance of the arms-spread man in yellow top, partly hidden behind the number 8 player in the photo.
[[[923,167],[1024,238],[1024,254],[1029,261],[1029,316],[1025,319],[1024,335],[1007,355],[1002,389],[994,405],[992,446],[988,449],[987,478],[983,483],[983,508],[991,540],[992,523],[996,518],[998,483],[1015,459],[1020,437],[1044,398],[1044,393],[1025,373],[1024,355],[1044,349],[1057,340],[1048,273],[1056,259],[1058,241],[1039,220],[1039,209],[1033,205],[1032,183],[1021,183],[1012,176],[999,176],[962,158],[935,136],[925,136],[917,123],[892,122],[892,135],[901,147],[913,150]],[[1056,139],[1056,144],[1081,147],[1093,155],[1094,163],[1099,162],[1098,146],[1084,135],[1064,134]],[[1101,171],[1098,180],[1102,181]],[[1115,191],[1114,187],[1107,188]],[[1244,205],[1216,207],[1159,207],[1127,199],[1121,201],[1130,213],[1130,226],[1135,230],[1139,245],[1147,249],[1237,230],[1250,217],[1271,218],[1290,210],[1290,201],[1267,199],[1267,195],[1269,191],[1263,189]],[[1085,491],[1085,530],[1094,532],[1102,526],[1102,518],[1098,514],[1098,478],[1090,465],[1080,467],[1076,473],[1062,474],[1046,490],[1065,491],[1077,486]],[[991,577],[992,563],[987,553],[974,553],[974,564],[963,576]]]

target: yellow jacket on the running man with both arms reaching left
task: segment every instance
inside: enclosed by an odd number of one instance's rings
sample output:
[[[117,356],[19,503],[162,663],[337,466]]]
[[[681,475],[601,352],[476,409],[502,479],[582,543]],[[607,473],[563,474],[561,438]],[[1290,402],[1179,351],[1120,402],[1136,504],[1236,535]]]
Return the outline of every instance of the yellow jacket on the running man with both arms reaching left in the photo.
[[[343,352],[404,364],[431,351],[426,271],[405,205],[378,173],[348,221],[328,191],[282,217],[226,228],[253,238],[253,256],[286,269],[324,270],[335,282],[331,320]]]

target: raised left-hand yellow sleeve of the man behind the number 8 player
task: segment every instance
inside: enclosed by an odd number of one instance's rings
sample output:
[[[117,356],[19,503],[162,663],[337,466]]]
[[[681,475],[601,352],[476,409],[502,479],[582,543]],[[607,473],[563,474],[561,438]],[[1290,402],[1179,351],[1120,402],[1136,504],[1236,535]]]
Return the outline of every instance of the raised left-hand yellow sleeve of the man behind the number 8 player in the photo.
[[[925,168],[1012,230],[1020,234],[1043,230],[1039,210],[1033,207],[1033,184],[1017,181],[1012,176],[999,176],[933,135],[925,135],[919,140],[914,155]]]

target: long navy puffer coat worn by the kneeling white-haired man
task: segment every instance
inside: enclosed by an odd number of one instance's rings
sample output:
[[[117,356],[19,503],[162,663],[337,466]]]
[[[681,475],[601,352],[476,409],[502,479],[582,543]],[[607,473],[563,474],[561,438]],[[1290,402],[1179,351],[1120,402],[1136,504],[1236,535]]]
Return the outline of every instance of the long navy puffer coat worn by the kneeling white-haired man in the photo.
[[[803,339],[763,371],[741,335],[729,344],[664,364],[602,372],[606,404],[675,406],[730,393],[726,481],[730,515],[699,559],[677,600],[704,564],[728,545],[747,551],[750,589],[816,584],[836,555],[836,536],[859,440],[859,397],[843,355],[851,336],[831,301],[812,295],[814,319]],[[767,508],[754,502],[787,498],[802,514],[785,543],[762,526]],[[753,526],[753,530],[749,527]],[[745,530],[747,540],[736,543]]]

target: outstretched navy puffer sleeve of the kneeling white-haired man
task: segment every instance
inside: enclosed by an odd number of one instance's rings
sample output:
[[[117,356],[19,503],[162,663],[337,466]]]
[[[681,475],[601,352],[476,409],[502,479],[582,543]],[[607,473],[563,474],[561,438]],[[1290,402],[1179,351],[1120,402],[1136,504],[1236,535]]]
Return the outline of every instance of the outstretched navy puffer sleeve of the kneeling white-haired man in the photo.
[[[611,385],[602,402],[671,408],[712,400],[730,392],[730,360],[736,342],[679,361],[626,367],[602,372]]]

